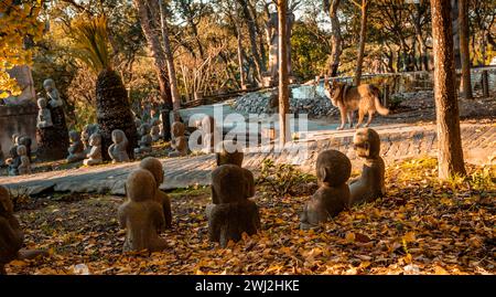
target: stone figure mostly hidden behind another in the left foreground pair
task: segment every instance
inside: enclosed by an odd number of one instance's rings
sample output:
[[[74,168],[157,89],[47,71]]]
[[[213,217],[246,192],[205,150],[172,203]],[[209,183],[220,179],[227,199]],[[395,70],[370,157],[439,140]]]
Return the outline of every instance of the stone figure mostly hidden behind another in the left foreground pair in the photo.
[[[159,159],[147,157],[140,162],[140,168],[150,171],[157,183],[155,201],[162,205],[163,216],[165,219],[165,227],[172,227],[171,199],[160,190],[163,182],[163,167]]]

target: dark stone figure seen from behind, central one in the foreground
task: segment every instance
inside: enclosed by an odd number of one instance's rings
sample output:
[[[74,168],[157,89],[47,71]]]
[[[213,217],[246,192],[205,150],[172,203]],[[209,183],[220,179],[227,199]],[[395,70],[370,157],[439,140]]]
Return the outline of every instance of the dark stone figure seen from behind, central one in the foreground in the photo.
[[[206,208],[208,237],[226,247],[241,234],[256,234],[260,229],[257,204],[248,198],[255,194],[254,174],[235,165],[223,165],[212,172],[212,200]]]

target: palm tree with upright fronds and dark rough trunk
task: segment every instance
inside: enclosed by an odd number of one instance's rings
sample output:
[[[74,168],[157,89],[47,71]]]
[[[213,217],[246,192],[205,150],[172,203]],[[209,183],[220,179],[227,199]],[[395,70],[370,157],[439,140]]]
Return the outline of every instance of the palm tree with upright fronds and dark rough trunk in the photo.
[[[71,25],[72,39],[77,57],[98,75],[96,84],[97,121],[100,126],[104,159],[108,160],[107,148],[115,129],[125,131],[129,140],[128,153],[134,157],[137,131],[128,92],[120,75],[112,70],[109,55],[107,18],[76,19]]]

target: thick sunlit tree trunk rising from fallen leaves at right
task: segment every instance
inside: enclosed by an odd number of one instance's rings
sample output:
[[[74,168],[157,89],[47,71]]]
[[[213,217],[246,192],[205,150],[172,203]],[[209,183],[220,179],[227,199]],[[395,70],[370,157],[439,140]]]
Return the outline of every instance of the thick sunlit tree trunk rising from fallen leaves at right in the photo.
[[[431,0],[439,178],[465,174],[460,135],[451,3]]]

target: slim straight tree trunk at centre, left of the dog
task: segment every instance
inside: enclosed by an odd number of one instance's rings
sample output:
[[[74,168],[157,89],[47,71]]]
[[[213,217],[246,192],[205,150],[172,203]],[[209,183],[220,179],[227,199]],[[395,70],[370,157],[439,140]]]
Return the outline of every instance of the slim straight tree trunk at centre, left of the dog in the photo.
[[[289,140],[289,127],[285,115],[289,110],[288,88],[288,0],[278,0],[279,14],[279,142],[283,146]]]

